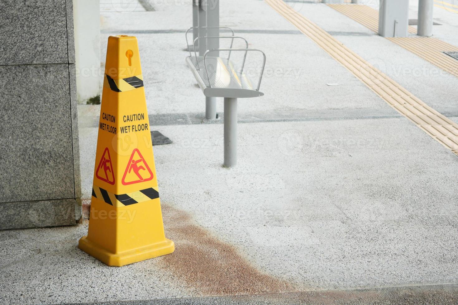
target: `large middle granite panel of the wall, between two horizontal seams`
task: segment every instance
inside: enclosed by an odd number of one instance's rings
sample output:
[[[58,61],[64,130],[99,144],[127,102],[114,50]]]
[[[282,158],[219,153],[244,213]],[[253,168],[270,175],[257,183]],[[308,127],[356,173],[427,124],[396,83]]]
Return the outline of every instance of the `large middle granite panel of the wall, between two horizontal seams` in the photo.
[[[75,198],[69,70],[0,66],[0,202]]]

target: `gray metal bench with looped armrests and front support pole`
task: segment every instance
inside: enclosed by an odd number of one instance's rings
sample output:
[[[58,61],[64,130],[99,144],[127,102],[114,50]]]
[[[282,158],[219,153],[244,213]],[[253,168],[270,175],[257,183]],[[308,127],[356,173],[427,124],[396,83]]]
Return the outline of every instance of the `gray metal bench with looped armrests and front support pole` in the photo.
[[[194,27],[188,29],[190,31]],[[194,77],[197,80],[204,96],[224,97],[224,166],[233,167],[237,164],[237,99],[245,97],[263,96],[264,93],[259,91],[261,86],[262,74],[266,65],[266,54],[258,49],[248,48],[248,42],[240,36],[207,36],[197,37],[194,39],[193,49],[194,56],[189,51],[186,57],[186,63],[191,68]],[[188,38],[186,31],[186,45]],[[207,50],[203,56],[197,56],[196,43],[201,39],[232,39],[230,48],[216,48]],[[234,39],[245,41],[246,48],[232,48]],[[202,44],[201,44],[202,45]],[[219,53],[220,51],[229,52],[228,58],[219,56],[209,56],[209,54]],[[230,60],[232,52],[245,52],[240,70]],[[262,54],[262,68],[260,71],[257,85],[244,72],[246,54],[248,52],[259,52]]]

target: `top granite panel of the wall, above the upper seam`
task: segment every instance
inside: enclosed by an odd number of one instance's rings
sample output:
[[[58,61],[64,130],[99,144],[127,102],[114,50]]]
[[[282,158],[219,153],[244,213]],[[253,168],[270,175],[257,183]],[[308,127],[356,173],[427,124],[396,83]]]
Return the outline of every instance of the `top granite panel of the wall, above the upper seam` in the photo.
[[[73,13],[65,6],[65,0],[1,0],[0,65],[68,63],[67,16],[73,22]]]

